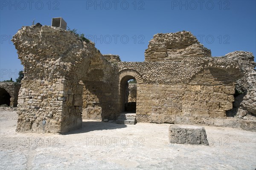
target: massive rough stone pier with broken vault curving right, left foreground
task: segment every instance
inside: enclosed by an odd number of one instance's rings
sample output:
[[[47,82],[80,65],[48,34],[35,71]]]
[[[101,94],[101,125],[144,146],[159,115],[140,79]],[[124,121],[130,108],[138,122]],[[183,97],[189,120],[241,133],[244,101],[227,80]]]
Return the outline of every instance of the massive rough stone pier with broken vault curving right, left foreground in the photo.
[[[84,82],[98,69],[104,72],[99,79],[108,84],[115,66],[92,42],[39,23],[22,27],[12,41],[24,65],[17,131],[65,133],[80,128]]]

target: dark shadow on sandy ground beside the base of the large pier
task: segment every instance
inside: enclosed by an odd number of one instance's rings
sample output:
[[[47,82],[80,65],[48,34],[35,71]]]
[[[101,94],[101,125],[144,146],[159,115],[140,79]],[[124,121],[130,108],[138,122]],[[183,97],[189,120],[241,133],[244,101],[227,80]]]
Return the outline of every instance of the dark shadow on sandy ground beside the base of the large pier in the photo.
[[[112,130],[121,129],[127,127],[125,124],[116,124],[115,122],[104,122],[104,121],[84,121],[82,122],[82,128],[78,130],[72,130],[62,135],[70,135],[77,133],[87,133],[95,130]]]

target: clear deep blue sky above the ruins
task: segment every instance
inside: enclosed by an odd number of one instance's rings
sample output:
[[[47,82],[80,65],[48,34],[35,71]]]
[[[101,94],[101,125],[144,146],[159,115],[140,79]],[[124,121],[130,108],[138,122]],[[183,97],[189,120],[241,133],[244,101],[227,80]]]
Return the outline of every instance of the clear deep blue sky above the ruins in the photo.
[[[182,30],[198,37],[212,56],[237,50],[256,55],[255,0],[1,0],[0,81],[15,80],[23,69],[12,36],[34,19],[50,26],[52,17],[63,17],[102,54],[122,61],[144,61],[154,34]]]

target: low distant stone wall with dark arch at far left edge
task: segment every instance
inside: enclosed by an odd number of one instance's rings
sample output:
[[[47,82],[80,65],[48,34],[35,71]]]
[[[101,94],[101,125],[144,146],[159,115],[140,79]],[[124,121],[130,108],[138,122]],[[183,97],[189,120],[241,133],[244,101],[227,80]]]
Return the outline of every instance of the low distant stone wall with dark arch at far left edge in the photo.
[[[5,104],[9,100],[10,107],[17,107],[18,94],[20,90],[20,83],[14,82],[0,82],[0,105]],[[9,94],[6,94],[6,92]],[[7,104],[8,105],[8,104]]]

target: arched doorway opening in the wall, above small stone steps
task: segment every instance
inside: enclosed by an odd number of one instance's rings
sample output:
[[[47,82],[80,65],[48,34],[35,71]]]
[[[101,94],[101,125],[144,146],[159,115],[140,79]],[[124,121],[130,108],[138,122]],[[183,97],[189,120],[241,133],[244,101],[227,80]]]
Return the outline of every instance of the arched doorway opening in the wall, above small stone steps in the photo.
[[[137,81],[126,75],[120,82],[122,112],[136,113]]]

